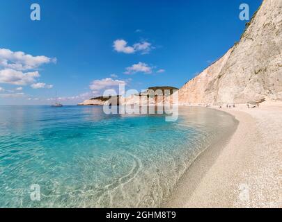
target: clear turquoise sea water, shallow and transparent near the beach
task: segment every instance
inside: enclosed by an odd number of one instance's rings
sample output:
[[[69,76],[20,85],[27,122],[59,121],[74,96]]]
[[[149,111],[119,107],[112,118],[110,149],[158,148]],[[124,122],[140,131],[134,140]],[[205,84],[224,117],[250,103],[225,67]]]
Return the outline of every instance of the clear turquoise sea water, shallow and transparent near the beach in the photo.
[[[0,106],[0,207],[159,207],[235,119],[206,108],[105,115],[101,107]],[[31,185],[40,201],[31,201]]]

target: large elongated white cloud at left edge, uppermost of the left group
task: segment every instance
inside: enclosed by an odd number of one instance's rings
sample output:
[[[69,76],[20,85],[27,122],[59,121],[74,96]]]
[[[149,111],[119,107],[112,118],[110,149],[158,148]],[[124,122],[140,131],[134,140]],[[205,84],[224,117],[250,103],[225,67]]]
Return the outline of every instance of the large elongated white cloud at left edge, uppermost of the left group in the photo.
[[[4,69],[15,69],[25,71],[36,69],[40,65],[50,62],[56,63],[56,58],[47,56],[31,56],[22,51],[10,51],[10,49],[0,49],[0,67]]]

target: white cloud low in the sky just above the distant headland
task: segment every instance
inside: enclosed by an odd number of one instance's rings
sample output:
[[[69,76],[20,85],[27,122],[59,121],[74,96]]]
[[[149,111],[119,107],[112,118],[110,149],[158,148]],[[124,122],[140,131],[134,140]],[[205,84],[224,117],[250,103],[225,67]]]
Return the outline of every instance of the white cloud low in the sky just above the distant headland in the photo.
[[[119,85],[126,85],[126,82],[123,80],[104,78],[101,80],[94,80],[90,85],[90,89],[93,90],[93,94],[96,94],[102,89],[111,89],[113,87],[118,87]]]

